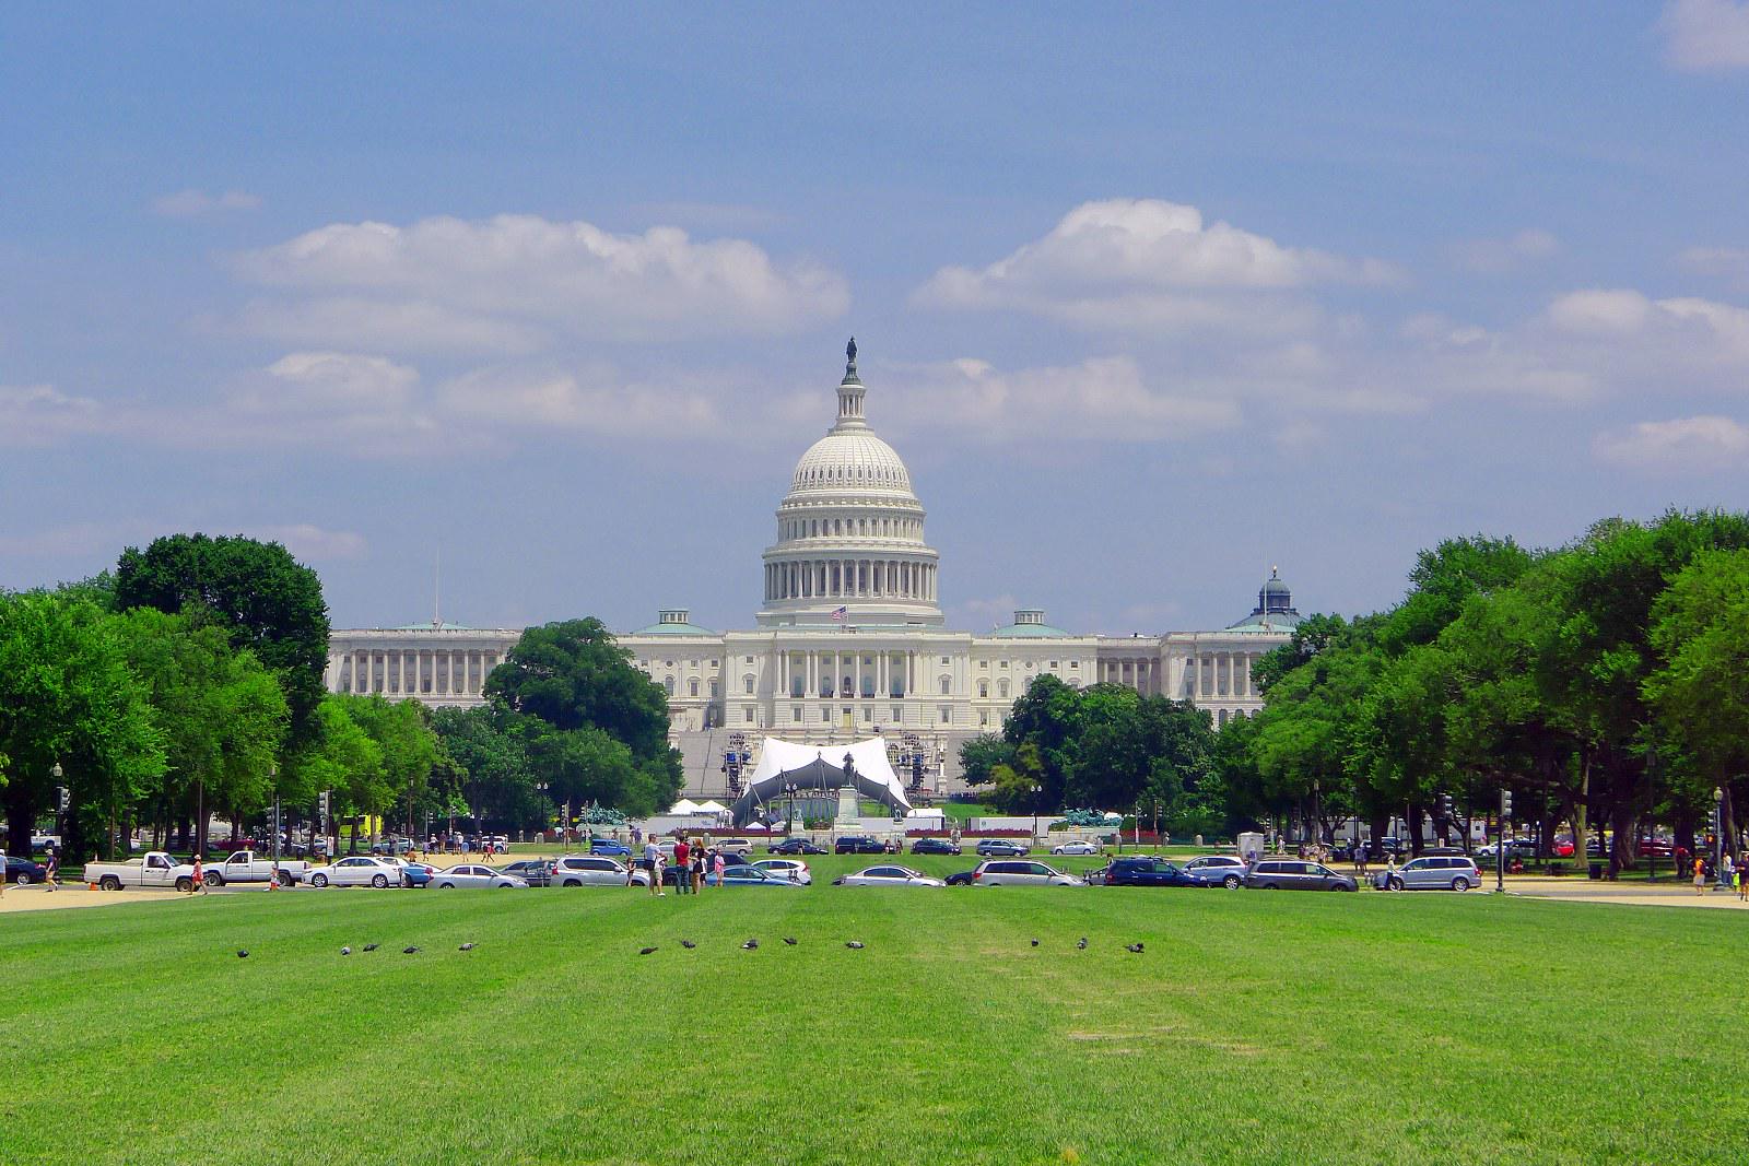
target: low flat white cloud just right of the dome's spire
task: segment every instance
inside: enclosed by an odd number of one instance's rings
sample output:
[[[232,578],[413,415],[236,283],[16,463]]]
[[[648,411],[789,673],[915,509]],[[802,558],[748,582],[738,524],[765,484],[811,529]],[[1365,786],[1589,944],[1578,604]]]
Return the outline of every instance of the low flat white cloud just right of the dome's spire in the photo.
[[[1158,392],[1128,357],[1000,371],[962,358],[913,369],[892,390],[892,414],[916,430],[951,428],[993,442],[1161,441],[1238,425],[1223,397]]]

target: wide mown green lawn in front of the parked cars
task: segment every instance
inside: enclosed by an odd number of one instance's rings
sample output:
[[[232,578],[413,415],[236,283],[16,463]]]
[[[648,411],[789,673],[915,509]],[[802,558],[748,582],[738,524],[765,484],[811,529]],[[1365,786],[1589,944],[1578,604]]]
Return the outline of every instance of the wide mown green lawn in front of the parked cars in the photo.
[[[826,878],[0,916],[0,1161],[1749,1161],[1728,911]]]

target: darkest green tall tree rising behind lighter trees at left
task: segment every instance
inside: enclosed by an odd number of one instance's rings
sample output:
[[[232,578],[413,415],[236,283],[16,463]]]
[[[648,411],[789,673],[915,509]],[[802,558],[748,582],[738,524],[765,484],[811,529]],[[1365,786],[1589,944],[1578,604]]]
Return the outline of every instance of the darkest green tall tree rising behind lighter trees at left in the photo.
[[[166,535],[145,551],[128,547],[115,566],[115,607],[217,622],[278,677],[290,711],[287,743],[301,748],[320,732],[327,605],[317,573],[280,544]]]

